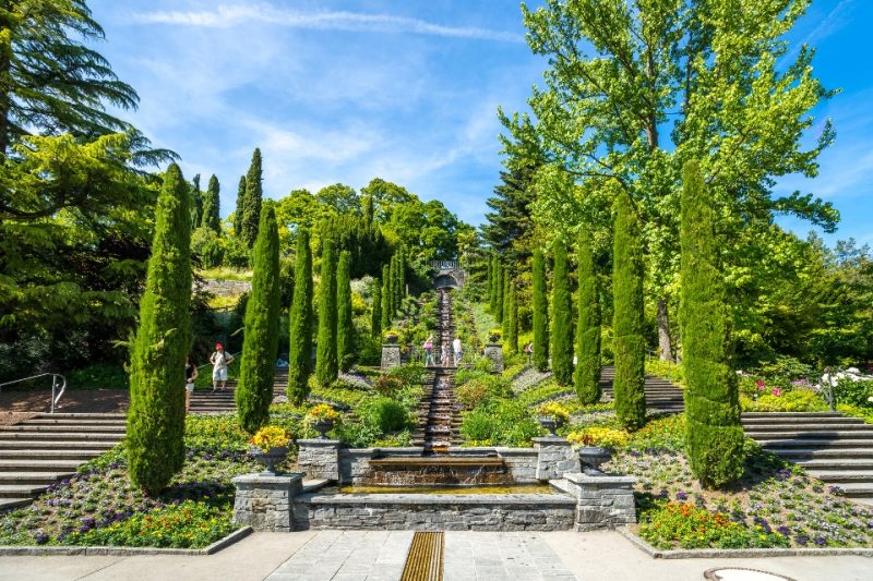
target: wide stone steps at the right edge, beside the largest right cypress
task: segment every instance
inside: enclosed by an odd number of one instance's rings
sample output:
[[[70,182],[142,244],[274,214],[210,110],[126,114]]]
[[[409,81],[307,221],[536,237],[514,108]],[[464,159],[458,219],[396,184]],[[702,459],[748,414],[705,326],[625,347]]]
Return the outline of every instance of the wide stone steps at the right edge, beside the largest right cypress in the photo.
[[[745,435],[762,448],[873,504],[873,425],[839,412],[744,413]]]

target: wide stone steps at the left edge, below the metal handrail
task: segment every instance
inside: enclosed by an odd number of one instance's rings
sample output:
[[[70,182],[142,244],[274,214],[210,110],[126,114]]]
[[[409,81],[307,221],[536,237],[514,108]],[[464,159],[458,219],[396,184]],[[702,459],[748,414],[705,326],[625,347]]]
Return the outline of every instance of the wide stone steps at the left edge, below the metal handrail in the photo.
[[[25,506],[124,437],[123,413],[40,413],[0,426],[0,510]]]

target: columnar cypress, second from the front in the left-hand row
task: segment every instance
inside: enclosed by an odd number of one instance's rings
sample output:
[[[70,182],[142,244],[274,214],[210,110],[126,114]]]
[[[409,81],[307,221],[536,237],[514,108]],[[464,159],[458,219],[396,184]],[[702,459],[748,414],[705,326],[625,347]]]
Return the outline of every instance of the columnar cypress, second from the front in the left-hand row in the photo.
[[[279,341],[279,231],[272,203],[261,211],[252,269],[236,400],[239,424],[253,434],[270,419]]]

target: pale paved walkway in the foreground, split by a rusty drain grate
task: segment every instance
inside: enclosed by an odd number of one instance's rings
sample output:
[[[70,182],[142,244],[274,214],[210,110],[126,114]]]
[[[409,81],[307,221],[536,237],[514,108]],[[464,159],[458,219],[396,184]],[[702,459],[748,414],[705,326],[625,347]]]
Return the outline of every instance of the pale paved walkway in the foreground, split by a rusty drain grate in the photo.
[[[0,580],[398,580],[411,532],[259,533],[210,557],[0,557]],[[870,579],[873,558],[651,559],[614,532],[445,533],[446,581],[702,580],[748,567],[798,581]]]

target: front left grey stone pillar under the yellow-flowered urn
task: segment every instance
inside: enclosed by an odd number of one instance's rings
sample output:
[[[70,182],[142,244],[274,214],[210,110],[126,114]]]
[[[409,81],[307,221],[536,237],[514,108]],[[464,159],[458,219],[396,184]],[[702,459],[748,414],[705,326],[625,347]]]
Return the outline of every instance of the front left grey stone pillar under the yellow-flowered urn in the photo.
[[[294,530],[291,500],[303,492],[302,474],[243,474],[232,482],[237,487],[234,522],[255,531]]]

